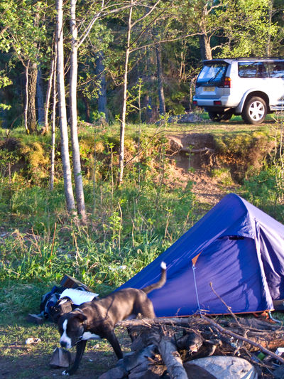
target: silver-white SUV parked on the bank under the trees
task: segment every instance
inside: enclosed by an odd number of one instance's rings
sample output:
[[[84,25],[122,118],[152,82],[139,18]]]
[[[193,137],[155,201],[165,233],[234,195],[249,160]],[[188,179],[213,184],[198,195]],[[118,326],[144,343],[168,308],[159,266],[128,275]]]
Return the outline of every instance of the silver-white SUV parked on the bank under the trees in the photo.
[[[204,60],[193,104],[214,121],[241,114],[244,122],[261,124],[267,113],[284,110],[284,59]]]

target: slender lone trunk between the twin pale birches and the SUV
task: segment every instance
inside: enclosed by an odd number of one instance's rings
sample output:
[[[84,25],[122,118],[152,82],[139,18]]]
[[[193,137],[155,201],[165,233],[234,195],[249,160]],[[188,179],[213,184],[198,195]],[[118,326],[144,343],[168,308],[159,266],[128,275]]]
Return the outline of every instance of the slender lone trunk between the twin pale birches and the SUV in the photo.
[[[131,0],[133,4],[133,0]],[[119,146],[119,184],[122,183],[124,178],[124,137],[125,137],[125,123],[126,123],[126,102],[127,102],[127,80],[128,80],[128,70],[129,70],[129,53],[130,53],[130,38],[131,38],[131,18],[132,18],[133,7],[129,9],[129,26],[127,30],[127,45],[125,52],[125,63],[124,63],[124,99],[121,114],[121,126],[120,126],[120,146]]]

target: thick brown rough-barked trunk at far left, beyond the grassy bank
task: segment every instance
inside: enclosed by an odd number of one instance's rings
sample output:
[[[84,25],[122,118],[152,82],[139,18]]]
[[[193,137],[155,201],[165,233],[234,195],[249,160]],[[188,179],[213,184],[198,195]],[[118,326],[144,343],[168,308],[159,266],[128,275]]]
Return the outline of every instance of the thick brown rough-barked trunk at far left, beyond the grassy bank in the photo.
[[[28,133],[33,134],[37,131],[36,114],[35,114],[35,95],[36,95],[36,81],[38,78],[38,67],[36,63],[28,65],[28,85],[26,96],[27,101],[27,128]]]

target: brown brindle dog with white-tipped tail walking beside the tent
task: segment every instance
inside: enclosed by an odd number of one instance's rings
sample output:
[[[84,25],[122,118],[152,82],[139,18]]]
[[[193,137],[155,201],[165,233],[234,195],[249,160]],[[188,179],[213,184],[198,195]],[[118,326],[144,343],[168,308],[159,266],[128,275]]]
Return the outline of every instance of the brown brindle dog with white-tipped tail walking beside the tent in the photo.
[[[143,289],[125,288],[99,300],[87,301],[74,311],[63,314],[58,320],[60,345],[62,348],[76,346],[73,365],[62,375],[72,375],[82,359],[84,348],[89,339],[107,338],[114,348],[117,358],[123,358],[119,341],[114,334],[116,322],[135,318],[155,318],[153,304],[147,294],[153,289],[163,287],[166,281],[166,265],[162,262],[160,280]]]

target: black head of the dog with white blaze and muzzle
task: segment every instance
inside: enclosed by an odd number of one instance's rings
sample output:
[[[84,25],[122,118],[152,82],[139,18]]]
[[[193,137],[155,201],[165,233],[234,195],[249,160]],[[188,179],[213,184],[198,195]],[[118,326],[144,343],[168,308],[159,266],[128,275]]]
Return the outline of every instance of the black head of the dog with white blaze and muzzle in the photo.
[[[58,320],[60,345],[62,348],[72,348],[80,341],[84,333],[84,321],[87,320],[80,309],[63,314]]]

